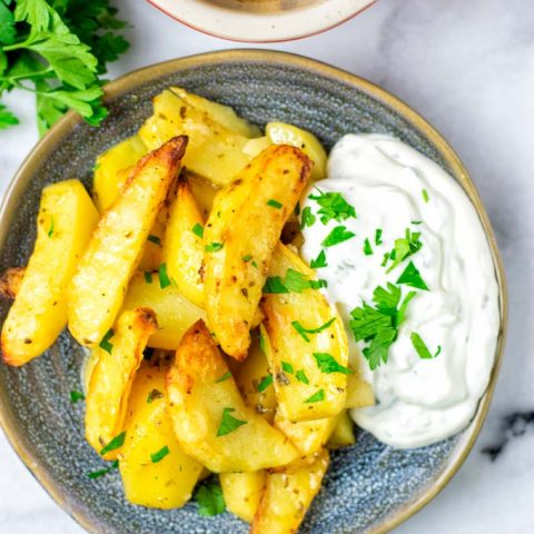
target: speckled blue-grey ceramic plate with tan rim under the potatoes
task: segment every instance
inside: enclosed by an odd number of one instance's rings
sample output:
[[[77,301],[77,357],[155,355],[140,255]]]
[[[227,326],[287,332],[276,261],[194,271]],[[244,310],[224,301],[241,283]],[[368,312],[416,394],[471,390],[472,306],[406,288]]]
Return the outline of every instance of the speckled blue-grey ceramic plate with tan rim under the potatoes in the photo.
[[[495,385],[506,325],[504,276],[493,231],[467,172],[444,139],[406,105],[355,76],[316,61],[268,51],[225,51],[178,59],[132,72],[107,88],[109,118],[93,128],[68,115],[40,141],[11,184],[0,211],[0,268],[24,265],[32,248],[41,189],[78,177],[90,187],[96,156],[132,135],[151,113],[151,97],[184,86],[260,126],[283,120],[315,132],[327,148],[344,134],[392,134],[446,169],[475,205],[493,250],[501,288],[501,335],[487,393],[467,429],[435,445],[395,451],[365,432],[335,452],[303,533],[387,532],[434,497],[469,452]],[[1,303],[1,318],[8,304]],[[118,473],[89,481],[102,467],[83,439],[82,349],[68,333],[22,368],[0,363],[0,423],[11,444],[56,501],[93,533],[245,533],[224,514],[200,517],[195,503],[162,512],[125,501]]]

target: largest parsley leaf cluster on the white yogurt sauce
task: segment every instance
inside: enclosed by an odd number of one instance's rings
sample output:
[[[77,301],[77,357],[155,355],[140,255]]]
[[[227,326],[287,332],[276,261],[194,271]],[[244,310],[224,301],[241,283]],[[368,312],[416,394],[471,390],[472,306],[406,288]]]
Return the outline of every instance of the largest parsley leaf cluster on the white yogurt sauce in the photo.
[[[363,354],[372,370],[387,363],[389,347],[397,338],[406,308],[415,295],[415,291],[409,291],[400,301],[400,288],[388,283],[387,289],[380,286],[375,289],[375,308],[364,303],[363,307],[350,312],[350,330],[356,342],[368,343]]]

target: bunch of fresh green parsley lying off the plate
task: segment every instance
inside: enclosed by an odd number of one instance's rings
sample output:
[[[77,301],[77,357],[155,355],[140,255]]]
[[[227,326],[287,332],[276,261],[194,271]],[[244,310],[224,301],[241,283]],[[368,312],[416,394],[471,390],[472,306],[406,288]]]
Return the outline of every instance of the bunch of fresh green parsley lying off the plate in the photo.
[[[99,76],[128,49],[126,26],[109,0],[0,0],[0,97],[33,92],[41,135],[69,109],[100,123]],[[16,123],[0,103],[0,129]]]

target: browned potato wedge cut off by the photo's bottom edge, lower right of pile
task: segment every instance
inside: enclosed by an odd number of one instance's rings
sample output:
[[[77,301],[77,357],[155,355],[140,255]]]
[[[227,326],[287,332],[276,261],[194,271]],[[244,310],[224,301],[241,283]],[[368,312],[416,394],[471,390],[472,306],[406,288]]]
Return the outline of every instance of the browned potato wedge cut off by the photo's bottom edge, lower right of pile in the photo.
[[[328,463],[325,449],[313,464],[290,473],[268,474],[250,534],[296,533],[320,490]]]

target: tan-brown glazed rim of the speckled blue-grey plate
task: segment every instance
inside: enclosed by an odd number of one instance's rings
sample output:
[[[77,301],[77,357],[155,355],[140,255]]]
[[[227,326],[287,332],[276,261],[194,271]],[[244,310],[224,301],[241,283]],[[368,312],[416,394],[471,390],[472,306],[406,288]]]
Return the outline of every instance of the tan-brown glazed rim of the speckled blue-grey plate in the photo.
[[[463,436],[454,447],[454,452],[447,461],[447,465],[438,475],[434,485],[423,490],[419,495],[414,496],[414,498],[404,507],[386,516],[380,524],[374,526],[370,531],[367,531],[368,534],[385,534],[423,508],[447,485],[447,483],[456,474],[458,468],[471,453],[487,415],[491,398],[495,389],[496,378],[503,359],[508,317],[505,273],[495,235],[493,233],[493,228],[484,205],[482,204],[475,185],[473,184],[467,170],[452,147],[447,144],[444,137],[434,129],[434,127],[432,127],[421,115],[409,108],[403,100],[393,96],[379,86],[356,75],[315,59],[289,52],[257,49],[221,50],[187,56],[130,71],[115,81],[109,82],[105,86],[105,101],[110,101],[115,98],[118,98],[152,79],[168,76],[177,70],[209,65],[231,65],[243,62],[264,62],[268,65],[291,66],[315,75],[318,73],[322,77],[329,78],[356,88],[393,109],[409,125],[415,127],[428,141],[431,141],[434,148],[437,149],[437,151],[447,162],[453,178],[459,181],[459,185],[469,197],[469,200],[473,202],[490,244],[495,268],[495,276],[500,290],[500,330],[497,346],[495,349],[495,362],[486,392],[479,400],[477,411],[469,426],[464,431]],[[19,170],[9,182],[0,205],[0,247],[3,247],[3,244],[6,243],[6,237],[9,230],[8,224],[11,221],[17,209],[18,199],[34,174],[34,168],[43,158],[55,150],[66,135],[68,135],[77,125],[80,125],[83,119],[79,115],[73,111],[69,111],[41,140],[39,140],[39,142],[33,147],[33,149],[23,160],[22,165],[19,167]],[[67,513],[69,513],[83,528],[91,533],[101,532],[96,521],[91,520],[91,517],[85,514],[82,511],[77,510],[77,506],[70,502],[68,495],[61,493],[61,491],[56,486],[52,477],[48,474],[47,469],[39,464],[38,459],[33,457],[29,448],[24,445],[23,439],[18,438],[16,423],[13,417],[10,416],[9,412],[10,411],[8,406],[0,403],[0,427],[3,429],[12,448],[24,463],[30,473],[34,476],[34,478],[37,478],[40,485],[56,501],[56,503],[59,504]]]

